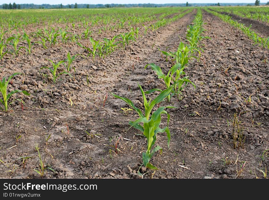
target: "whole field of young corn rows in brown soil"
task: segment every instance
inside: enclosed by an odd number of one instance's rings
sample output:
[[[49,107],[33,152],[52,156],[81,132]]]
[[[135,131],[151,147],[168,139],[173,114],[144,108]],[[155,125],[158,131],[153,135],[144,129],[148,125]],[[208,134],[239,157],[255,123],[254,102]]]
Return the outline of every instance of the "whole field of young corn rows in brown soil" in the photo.
[[[0,12],[1,178],[267,178],[269,7]]]

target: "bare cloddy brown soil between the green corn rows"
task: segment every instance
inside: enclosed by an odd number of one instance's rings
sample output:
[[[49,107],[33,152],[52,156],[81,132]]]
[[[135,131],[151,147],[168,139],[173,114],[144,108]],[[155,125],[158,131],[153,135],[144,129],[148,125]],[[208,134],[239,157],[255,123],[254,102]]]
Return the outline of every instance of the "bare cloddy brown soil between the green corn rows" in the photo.
[[[35,151],[38,144],[46,165],[56,171],[47,170],[45,178],[140,178],[137,170],[146,140],[133,128],[126,131],[128,121],[137,115],[134,111],[123,114],[120,108],[127,104],[110,92],[130,98],[142,108],[137,82],[144,90],[164,89],[155,72],[144,67],[154,62],[168,71],[171,61],[166,62],[159,49],[175,51],[180,38],[185,41],[187,25],[194,15],[189,13],[104,60],[96,58],[93,63],[90,58],[77,59],[73,63],[75,79],[62,75],[55,85],[39,73],[42,66],[50,66],[45,58],[59,61],[68,51],[86,55],[77,45],[48,50],[36,46],[30,55],[2,61],[1,75],[26,74],[16,76],[9,89],[26,89],[31,96],[22,96],[24,111],[14,102],[8,113],[0,113],[0,159],[5,162],[0,163],[0,177],[38,178],[33,171],[39,166]],[[188,85],[182,99],[171,99],[178,108],[168,110],[170,149],[166,135],[159,134],[156,144],[163,152],[155,153],[151,162],[162,170],[153,178],[262,178],[259,170],[269,166],[268,153],[263,160],[260,157],[269,148],[268,50],[253,45],[240,30],[211,14],[203,13],[203,19],[208,30],[205,35],[212,40],[202,41],[202,58],[193,60],[185,70],[196,89]],[[87,74],[92,77],[89,87]],[[251,102],[245,102],[250,95]],[[232,139],[234,113],[240,115],[245,136],[244,146],[236,149]],[[46,145],[45,135],[49,134]],[[16,141],[16,135],[22,137]],[[115,154],[120,136],[120,152]],[[25,168],[21,159],[17,160],[22,156],[31,156]],[[8,172],[12,169],[16,170]],[[152,171],[145,167],[141,172],[148,172],[144,178],[152,177]]]

